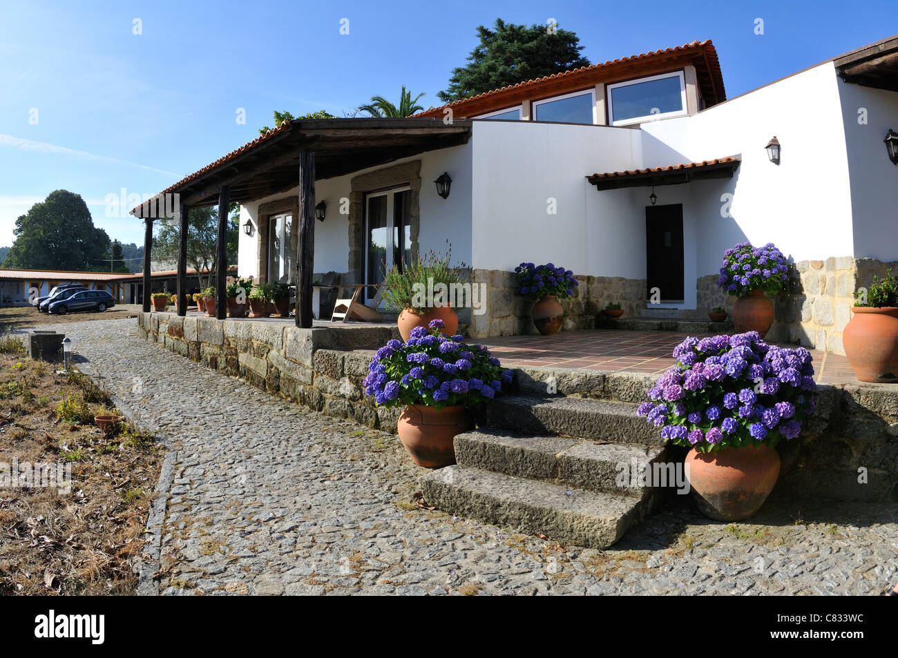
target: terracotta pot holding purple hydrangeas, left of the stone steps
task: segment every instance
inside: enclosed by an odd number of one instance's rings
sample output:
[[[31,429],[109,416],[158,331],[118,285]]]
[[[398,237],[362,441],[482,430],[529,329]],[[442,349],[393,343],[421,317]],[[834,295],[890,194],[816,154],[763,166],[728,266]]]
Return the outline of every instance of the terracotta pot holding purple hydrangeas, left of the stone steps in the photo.
[[[397,429],[411,459],[428,469],[455,463],[455,434],[473,429],[471,414],[462,405],[436,408],[409,405],[399,417]]]

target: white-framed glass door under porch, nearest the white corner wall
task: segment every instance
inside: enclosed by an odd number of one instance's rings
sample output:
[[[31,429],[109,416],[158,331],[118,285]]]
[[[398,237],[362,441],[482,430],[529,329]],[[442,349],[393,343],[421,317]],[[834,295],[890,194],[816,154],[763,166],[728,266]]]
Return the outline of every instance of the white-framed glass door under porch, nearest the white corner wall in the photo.
[[[411,261],[411,191],[373,192],[365,198],[365,283],[380,284],[383,274]],[[365,288],[365,300],[376,290]]]

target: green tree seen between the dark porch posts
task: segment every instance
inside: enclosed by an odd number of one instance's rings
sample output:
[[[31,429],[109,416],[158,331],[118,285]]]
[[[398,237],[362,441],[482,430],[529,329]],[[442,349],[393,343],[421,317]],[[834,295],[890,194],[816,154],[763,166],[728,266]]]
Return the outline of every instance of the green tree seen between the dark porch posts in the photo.
[[[238,208],[237,214],[234,208]],[[229,263],[237,262],[237,239],[240,215],[237,204],[228,208],[226,250]],[[180,229],[174,219],[158,219],[154,222],[153,258],[178,261]],[[216,206],[191,207],[187,214],[187,267],[197,271],[200,287],[212,285],[216,271],[216,241],[218,238],[218,208]]]

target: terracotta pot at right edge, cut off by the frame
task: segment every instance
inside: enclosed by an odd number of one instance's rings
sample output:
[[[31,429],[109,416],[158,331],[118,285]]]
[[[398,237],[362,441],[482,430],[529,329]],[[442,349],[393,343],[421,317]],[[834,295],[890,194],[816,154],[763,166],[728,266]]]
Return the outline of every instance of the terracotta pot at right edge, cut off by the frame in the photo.
[[[898,308],[855,306],[842,345],[860,382],[898,382]]]

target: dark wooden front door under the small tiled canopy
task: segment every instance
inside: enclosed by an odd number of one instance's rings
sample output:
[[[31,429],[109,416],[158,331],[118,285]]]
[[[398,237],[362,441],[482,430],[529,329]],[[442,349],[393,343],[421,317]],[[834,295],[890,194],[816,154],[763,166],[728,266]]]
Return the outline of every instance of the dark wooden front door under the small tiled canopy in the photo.
[[[682,302],[682,204],[646,207],[647,298],[652,288],[662,302]]]

